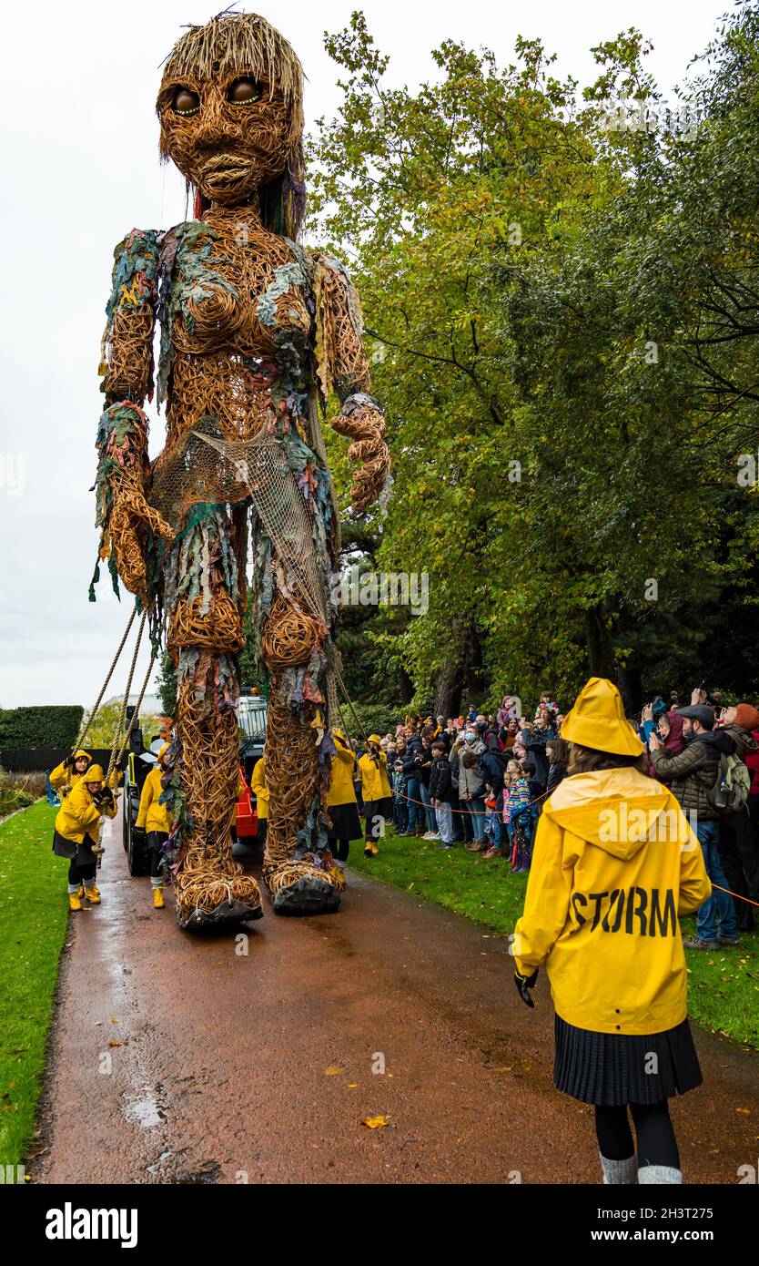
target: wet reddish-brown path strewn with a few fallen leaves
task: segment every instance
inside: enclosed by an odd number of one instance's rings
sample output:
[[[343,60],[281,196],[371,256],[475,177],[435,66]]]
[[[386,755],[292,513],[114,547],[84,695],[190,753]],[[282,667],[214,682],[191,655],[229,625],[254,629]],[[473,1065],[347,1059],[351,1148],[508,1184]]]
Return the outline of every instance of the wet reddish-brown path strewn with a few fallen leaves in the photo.
[[[70,920],[33,1181],[600,1181],[591,1109],[552,1084],[545,977],[529,1012],[507,938],[354,872],[336,914],[280,918],[264,894],[242,937],[191,936],[129,877],[119,819],[105,842],[102,904]],[[684,1179],[734,1184],[759,1060],[696,1042],[705,1085],[672,1105]]]

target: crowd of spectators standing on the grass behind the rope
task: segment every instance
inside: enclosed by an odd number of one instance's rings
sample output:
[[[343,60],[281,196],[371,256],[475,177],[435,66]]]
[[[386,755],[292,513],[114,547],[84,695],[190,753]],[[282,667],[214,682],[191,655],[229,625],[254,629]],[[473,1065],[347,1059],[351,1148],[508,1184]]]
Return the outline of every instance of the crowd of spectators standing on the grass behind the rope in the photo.
[[[395,733],[373,736],[369,757],[387,770],[396,834],[528,871],[543,805],[573,772],[563,720],[544,691],[529,717],[516,695],[505,695],[496,714],[471,706],[455,718],[406,718]],[[688,705],[655,696],[627,722],[646,772],[672,789],[689,820],[715,885],[688,944],[734,946],[754,927],[759,901],[759,709],[725,705],[720,695],[710,701],[698,687]],[[374,852],[376,839],[374,827]]]

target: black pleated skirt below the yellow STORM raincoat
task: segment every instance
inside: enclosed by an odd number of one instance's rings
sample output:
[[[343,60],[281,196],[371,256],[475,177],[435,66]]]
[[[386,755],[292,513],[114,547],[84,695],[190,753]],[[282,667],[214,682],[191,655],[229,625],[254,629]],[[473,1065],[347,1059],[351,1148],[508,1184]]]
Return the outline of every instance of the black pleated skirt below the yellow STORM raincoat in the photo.
[[[700,1086],[687,1019],[664,1033],[595,1033],[555,1018],[554,1085],[584,1104],[655,1104]]]

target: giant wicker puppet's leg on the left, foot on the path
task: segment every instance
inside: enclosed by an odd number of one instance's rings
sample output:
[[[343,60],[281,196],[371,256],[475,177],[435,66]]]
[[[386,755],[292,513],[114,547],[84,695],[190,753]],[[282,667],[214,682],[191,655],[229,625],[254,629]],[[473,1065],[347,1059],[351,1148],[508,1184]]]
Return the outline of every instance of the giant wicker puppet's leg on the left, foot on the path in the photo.
[[[257,919],[263,913],[258,884],[231,856],[244,595],[233,527],[220,506],[206,508],[175,544],[166,598],[177,595],[167,637],[178,668],[172,774],[177,920],[187,928]]]

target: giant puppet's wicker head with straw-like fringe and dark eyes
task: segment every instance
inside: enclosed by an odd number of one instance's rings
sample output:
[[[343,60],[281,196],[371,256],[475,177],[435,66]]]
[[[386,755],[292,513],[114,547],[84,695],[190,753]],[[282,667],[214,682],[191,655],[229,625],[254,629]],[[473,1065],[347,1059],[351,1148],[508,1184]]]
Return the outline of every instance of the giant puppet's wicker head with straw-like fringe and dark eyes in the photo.
[[[258,199],[263,223],[295,238],[305,211],[304,72],[287,41],[253,13],[190,27],[156,103],[161,156],[200,195],[200,210]]]

